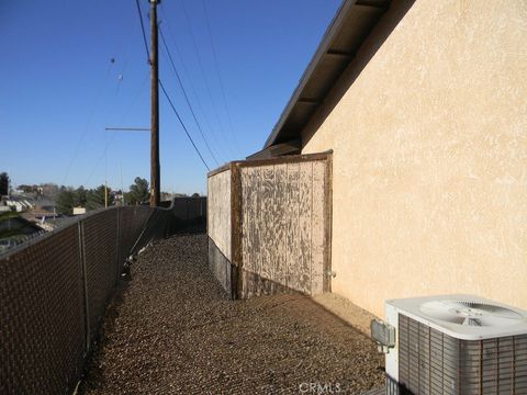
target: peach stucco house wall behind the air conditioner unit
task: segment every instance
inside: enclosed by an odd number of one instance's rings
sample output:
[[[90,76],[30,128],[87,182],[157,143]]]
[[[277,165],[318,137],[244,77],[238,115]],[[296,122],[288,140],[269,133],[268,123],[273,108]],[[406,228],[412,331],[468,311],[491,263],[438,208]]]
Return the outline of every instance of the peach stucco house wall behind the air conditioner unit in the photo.
[[[526,1],[394,1],[303,144],[334,149],[334,292],[527,308]]]

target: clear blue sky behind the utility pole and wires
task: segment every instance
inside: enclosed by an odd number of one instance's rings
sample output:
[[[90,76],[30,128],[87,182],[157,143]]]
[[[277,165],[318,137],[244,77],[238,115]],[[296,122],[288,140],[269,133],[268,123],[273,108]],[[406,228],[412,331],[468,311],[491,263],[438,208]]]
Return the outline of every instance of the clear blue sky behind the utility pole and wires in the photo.
[[[139,3],[148,34],[148,2]],[[339,4],[162,1],[160,27],[220,163],[261,148]],[[159,45],[160,79],[213,169]],[[148,133],[104,131],[150,122],[134,0],[0,0],[0,171],[14,183],[91,188],[108,178],[127,189],[137,176],[149,180]],[[206,169],[161,94],[160,159],[164,191],[206,192]]]

